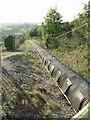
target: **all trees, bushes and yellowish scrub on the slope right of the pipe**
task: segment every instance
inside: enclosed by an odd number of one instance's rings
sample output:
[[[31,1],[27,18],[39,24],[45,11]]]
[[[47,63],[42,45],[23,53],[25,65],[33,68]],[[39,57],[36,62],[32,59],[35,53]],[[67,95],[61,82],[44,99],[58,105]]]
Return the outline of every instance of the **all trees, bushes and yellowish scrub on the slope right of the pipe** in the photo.
[[[41,25],[28,29],[23,39],[34,39],[67,66],[89,81],[90,5],[84,5],[72,22],[63,22],[57,8],[51,8]]]

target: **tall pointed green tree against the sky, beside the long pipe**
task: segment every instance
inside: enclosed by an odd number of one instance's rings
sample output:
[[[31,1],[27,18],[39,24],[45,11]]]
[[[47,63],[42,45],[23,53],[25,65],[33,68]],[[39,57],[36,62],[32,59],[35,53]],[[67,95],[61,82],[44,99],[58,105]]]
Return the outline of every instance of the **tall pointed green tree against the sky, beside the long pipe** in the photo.
[[[46,40],[47,47],[50,47],[50,46],[53,47],[52,46],[53,41],[51,40],[51,38],[60,35],[60,33],[62,32],[61,18],[62,16],[58,13],[56,8],[55,9],[51,8],[49,12],[46,14],[46,17],[44,18],[45,21],[44,23],[42,23],[42,35],[43,35],[43,38]],[[58,41],[54,41],[54,42],[58,42]]]

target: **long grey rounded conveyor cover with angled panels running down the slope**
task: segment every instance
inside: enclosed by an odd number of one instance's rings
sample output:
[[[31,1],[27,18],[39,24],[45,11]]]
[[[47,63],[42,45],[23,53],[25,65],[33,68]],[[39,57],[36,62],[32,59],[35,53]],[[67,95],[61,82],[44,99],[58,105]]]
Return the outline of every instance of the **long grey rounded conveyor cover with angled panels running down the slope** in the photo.
[[[34,51],[40,56],[51,76],[58,83],[63,93],[78,112],[90,101],[90,83],[65,64],[52,56],[37,43],[29,41]]]

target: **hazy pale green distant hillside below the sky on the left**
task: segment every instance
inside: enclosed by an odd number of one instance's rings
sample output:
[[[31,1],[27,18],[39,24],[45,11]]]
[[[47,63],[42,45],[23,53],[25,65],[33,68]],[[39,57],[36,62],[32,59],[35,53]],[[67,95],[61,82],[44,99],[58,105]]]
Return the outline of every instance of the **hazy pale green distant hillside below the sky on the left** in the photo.
[[[2,41],[2,36],[23,33],[29,28],[36,27],[39,23],[0,23],[0,41]]]

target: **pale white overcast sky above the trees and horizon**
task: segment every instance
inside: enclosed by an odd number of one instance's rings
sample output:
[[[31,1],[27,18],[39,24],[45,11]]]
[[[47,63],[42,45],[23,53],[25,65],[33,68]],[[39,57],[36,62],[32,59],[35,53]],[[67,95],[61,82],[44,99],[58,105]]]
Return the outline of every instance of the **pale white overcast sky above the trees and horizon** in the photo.
[[[64,21],[72,21],[89,0],[0,0],[0,23],[43,22],[50,8],[57,6]]]

